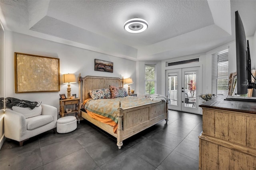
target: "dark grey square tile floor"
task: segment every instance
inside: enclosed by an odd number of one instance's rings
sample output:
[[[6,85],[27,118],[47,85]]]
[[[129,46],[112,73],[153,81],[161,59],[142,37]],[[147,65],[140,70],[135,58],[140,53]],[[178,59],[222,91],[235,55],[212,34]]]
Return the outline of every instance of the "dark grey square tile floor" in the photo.
[[[198,170],[202,115],[170,111],[169,121],[123,141],[87,121],[66,134],[48,131],[24,142],[6,139],[0,170]]]

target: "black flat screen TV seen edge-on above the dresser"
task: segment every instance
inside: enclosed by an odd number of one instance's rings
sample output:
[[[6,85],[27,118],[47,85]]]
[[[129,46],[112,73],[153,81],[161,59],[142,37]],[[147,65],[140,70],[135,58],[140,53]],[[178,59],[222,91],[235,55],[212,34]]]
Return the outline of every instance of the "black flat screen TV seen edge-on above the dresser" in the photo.
[[[246,41],[244,26],[238,11],[235,12],[236,28],[236,71],[237,94],[246,96],[248,89],[256,89],[256,84],[251,80],[251,59],[249,41]]]

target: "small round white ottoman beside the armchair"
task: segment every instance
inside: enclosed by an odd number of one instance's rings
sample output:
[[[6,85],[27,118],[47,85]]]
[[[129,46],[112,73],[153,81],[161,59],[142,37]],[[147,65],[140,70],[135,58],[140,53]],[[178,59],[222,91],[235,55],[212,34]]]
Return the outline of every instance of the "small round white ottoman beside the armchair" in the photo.
[[[75,130],[76,125],[76,117],[74,116],[66,116],[61,117],[57,120],[57,132],[58,133],[68,133]]]

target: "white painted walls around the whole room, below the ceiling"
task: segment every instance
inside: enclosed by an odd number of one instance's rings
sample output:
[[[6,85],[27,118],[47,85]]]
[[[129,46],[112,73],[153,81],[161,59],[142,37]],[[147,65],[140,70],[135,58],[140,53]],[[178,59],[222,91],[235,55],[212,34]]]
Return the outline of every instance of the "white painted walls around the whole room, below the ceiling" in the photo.
[[[254,40],[256,36],[249,37],[250,52],[252,57],[252,69],[256,67],[256,44]],[[211,57],[215,52],[229,47],[229,73],[236,71],[236,47],[235,42],[230,42],[222,45],[212,51],[200,54],[200,63],[202,63],[202,93],[210,93],[211,91]],[[43,103],[54,105],[58,108],[59,94],[66,94],[67,85],[62,85],[60,92],[52,93],[15,93],[14,92],[14,52],[28,53],[34,55],[42,55],[48,57],[60,58],[60,74],[75,73],[77,76],[81,73],[82,77],[86,75],[107,76],[107,77],[131,77],[134,84],[130,85],[131,89],[135,89],[138,96],[144,94],[144,64],[157,63],[157,90],[156,93],[165,95],[165,62],[170,61],[131,61],[122,59],[86,49],[73,47],[61,43],[51,42],[40,38],[18,34],[15,32],[6,31],[6,97],[16,97],[19,99],[26,99],[30,101],[42,101]],[[184,56],[179,58],[190,58],[191,56]],[[114,63],[114,72],[107,73],[102,71],[94,71],[94,59],[102,59]],[[138,71],[136,71],[138,70]],[[137,83],[138,82],[138,83]],[[127,88],[127,85],[125,85]],[[71,84],[71,93],[78,94],[78,83]]]

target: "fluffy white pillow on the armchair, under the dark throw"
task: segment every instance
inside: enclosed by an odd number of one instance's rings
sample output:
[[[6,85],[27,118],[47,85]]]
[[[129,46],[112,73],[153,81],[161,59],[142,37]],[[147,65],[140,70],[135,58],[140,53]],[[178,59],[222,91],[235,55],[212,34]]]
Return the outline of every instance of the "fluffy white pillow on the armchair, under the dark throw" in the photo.
[[[27,119],[27,118],[30,118],[30,117],[35,117],[35,116],[41,115],[42,106],[40,105],[38,107],[35,107],[34,109],[30,109],[29,107],[13,106],[12,110],[16,111],[18,113],[21,113]]]

